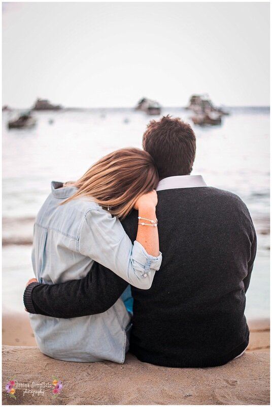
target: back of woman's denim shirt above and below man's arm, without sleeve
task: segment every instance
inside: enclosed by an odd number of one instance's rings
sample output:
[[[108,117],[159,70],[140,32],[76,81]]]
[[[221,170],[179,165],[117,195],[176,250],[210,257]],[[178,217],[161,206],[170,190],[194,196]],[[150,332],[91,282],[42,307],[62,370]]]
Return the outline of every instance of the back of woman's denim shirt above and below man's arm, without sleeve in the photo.
[[[80,230],[88,211],[101,210],[95,202],[84,198],[59,205],[72,196],[76,188],[61,188],[62,184],[55,182],[51,185],[52,193],[36,219],[32,250],[36,277],[49,284],[80,279],[90,271],[94,260],[79,252]],[[90,245],[101,243],[89,242]],[[48,356],[95,362],[113,360],[115,355],[116,362],[124,361],[125,329],[130,318],[121,299],[98,315],[67,319],[39,314],[29,316],[38,346]]]

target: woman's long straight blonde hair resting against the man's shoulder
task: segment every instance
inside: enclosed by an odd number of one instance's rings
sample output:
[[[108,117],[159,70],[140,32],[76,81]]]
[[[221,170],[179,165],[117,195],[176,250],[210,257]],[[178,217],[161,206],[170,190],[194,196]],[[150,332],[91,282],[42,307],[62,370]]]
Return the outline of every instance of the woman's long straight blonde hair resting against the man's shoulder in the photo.
[[[158,171],[149,153],[137,148],[120,149],[93,164],[78,181],[69,182],[78,191],[61,205],[85,196],[122,219],[158,182]]]

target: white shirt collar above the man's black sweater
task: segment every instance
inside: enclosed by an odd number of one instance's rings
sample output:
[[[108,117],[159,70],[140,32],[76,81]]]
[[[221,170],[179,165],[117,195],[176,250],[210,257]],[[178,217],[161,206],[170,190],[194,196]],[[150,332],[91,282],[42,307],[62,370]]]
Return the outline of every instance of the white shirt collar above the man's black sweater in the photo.
[[[163,178],[157,185],[156,191],[163,189],[207,187],[201,175],[178,175]]]

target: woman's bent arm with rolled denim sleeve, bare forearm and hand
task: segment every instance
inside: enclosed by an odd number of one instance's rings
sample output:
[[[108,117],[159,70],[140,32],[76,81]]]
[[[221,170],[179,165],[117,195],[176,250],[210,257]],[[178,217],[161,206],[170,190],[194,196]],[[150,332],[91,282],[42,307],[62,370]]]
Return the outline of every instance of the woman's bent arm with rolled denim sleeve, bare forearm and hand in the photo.
[[[139,216],[153,216],[156,219],[155,194],[154,191],[151,196],[139,199]],[[78,251],[112,270],[129,284],[142,289],[151,287],[162,260],[157,227],[138,225],[137,239],[132,245],[119,219],[98,207],[85,214]]]

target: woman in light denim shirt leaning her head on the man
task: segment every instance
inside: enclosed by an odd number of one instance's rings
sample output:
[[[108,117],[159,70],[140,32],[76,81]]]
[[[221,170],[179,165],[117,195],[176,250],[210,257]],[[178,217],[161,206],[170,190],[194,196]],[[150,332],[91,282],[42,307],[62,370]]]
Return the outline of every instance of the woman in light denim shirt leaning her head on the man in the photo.
[[[161,265],[152,157],[135,148],[108,154],[76,182],[52,182],[35,223],[32,265],[42,283],[80,279],[94,261],[135,287],[150,288]],[[139,211],[132,245],[120,223]],[[73,298],[71,298],[73,301]],[[123,363],[130,316],[121,299],[108,311],[62,319],[29,314],[40,350],[55,359]]]

